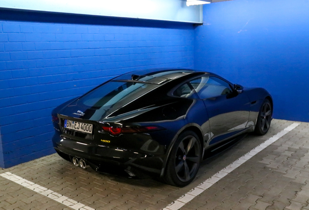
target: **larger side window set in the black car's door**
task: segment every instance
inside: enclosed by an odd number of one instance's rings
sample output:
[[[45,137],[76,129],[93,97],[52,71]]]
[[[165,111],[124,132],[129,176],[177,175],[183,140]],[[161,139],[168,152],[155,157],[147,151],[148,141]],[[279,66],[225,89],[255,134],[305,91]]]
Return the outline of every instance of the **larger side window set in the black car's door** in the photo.
[[[200,99],[213,98],[232,92],[229,84],[213,76],[203,76],[190,81]]]

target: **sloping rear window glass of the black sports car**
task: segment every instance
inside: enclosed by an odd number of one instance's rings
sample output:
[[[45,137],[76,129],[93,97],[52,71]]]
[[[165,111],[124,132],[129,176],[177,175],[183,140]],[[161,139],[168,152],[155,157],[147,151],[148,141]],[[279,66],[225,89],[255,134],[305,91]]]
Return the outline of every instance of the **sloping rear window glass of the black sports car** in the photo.
[[[78,100],[78,104],[91,109],[120,107],[158,87],[155,84],[109,81]]]

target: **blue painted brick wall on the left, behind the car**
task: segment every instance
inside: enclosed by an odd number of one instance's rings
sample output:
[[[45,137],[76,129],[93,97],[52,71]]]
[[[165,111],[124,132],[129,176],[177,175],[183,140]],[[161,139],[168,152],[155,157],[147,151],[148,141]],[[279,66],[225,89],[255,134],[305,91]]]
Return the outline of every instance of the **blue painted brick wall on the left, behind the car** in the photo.
[[[191,25],[0,12],[2,168],[54,152],[55,106],[131,70],[193,68]]]

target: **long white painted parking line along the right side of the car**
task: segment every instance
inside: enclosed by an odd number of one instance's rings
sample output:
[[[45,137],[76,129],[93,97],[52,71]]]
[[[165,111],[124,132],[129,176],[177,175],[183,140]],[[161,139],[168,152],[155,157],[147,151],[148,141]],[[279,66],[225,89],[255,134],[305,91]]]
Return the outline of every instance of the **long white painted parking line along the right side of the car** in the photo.
[[[222,169],[217,174],[211,176],[210,178],[206,179],[204,182],[199,184],[197,187],[193,188],[183,196],[179,197],[177,200],[173,201],[171,204],[169,204],[167,207],[165,207],[163,210],[179,210],[181,207],[183,207],[185,204],[189,203],[193,198],[210,188],[213,184],[218,182],[220,179],[222,179],[224,176],[228,175],[232,171],[234,171],[236,168],[238,168],[240,165],[245,163],[248,159],[255,156],[258,152],[262,151],[272,143],[274,143],[276,140],[280,139],[285,134],[292,131],[295,127],[297,127],[300,123],[292,123],[279,133],[275,134],[273,137],[269,138],[268,140],[264,141],[260,145],[258,145],[256,148],[245,154],[244,156],[237,159],[235,162],[231,163],[224,169]]]

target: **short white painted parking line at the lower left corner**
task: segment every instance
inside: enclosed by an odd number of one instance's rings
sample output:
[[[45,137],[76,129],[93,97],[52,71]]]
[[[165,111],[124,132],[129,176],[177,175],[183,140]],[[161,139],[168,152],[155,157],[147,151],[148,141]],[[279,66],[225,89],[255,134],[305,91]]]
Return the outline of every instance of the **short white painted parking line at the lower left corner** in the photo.
[[[30,190],[33,190],[34,192],[37,192],[41,195],[47,196],[49,198],[51,198],[54,201],[57,201],[73,210],[94,210],[90,207],[87,207],[86,205],[79,203],[77,201],[74,201],[66,196],[63,196],[57,192],[53,192],[45,187],[42,187],[38,184],[34,184],[31,181],[28,181],[27,179],[24,179],[20,176],[14,175],[10,172],[6,172],[3,174],[0,174],[0,176],[9,179],[19,185],[24,186],[25,188],[28,188]]]

